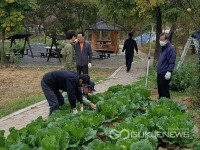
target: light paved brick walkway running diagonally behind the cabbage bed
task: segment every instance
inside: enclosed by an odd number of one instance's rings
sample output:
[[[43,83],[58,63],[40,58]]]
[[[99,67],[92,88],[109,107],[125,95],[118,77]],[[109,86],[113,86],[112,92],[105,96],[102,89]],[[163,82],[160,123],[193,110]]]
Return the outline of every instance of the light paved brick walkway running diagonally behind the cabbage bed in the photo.
[[[110,86],[117,84],[130,84],[144,76],[146,74],[148,57],[146,54],[140,52],[138,56],[140,59],[133,62],[132,69],[129,73],[126,73],[125,66],[119,67],[107,80],[102,81],[95,86],[96,91],[104,92]],[[150,63],[152,64],[152,60],[150,60]],[[10,127],[20,129],[25,127],[32,120],[37,119],[39,116],[47,118],[48,112],[49,107],[47,101],[44,100],[0,119],[0,130],[5,130],[5,135],[7,136]]]

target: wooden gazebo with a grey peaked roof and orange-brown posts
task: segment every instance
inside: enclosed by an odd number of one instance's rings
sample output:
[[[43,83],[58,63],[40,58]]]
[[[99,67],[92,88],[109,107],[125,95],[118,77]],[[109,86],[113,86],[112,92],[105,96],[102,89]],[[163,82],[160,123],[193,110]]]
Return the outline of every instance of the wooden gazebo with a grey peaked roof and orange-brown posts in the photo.
[[[100,21],[89,26],[86,30],[92,31],[91,46],[93,51],[105,49],[106,51],[117,54],[119,50],[119,31],[124,30],[122,26],[115,23]],[[102,32],[104,31],[110,32],[107,39],[102,36]]]

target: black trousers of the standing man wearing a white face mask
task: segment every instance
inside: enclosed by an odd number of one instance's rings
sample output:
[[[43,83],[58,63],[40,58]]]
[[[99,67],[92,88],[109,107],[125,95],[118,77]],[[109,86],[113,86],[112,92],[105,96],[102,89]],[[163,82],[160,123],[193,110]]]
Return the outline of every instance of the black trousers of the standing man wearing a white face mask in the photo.
[[[170,92],[169,92],[169,83],[170,80],[165,79],[165,74],[157,74],[157,86],[158,86],[158,94],[159,99],[161,97],[170,98]]]

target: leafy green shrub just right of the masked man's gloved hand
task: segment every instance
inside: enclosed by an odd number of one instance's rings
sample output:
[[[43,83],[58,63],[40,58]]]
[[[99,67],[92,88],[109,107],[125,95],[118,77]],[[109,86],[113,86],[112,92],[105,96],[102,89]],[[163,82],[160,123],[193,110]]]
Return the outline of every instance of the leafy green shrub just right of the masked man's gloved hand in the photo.
[[[173,91],[186,91],[194,86],[198,78],[198,69],[196,64],[184,64],[180,69],[173,72],[172,81],[170,83]]]

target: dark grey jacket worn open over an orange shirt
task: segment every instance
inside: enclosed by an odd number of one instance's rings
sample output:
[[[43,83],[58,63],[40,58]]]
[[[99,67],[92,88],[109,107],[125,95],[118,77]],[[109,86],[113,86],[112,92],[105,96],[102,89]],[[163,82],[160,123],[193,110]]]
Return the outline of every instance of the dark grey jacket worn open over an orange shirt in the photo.
[[[84,42],[82,52],[79,42],[76,43],[75,52],[77,66],[86,66],[88,63],[92,62],[92,48],[90,43]]]

